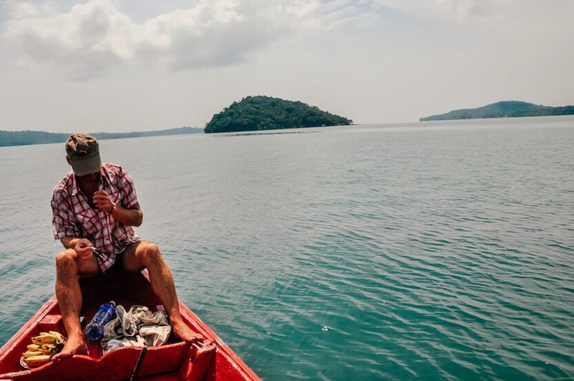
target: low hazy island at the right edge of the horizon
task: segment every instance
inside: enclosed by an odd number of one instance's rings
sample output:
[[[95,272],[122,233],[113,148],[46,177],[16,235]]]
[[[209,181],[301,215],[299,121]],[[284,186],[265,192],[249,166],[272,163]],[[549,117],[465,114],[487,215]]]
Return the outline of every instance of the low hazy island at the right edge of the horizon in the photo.
[[[455,110],[446,114],[427,116],[419,121],[450,119],[516,118],[520,116],[573,115],[574,106],[550,107],[520,101],[502,101],[478,108]]]

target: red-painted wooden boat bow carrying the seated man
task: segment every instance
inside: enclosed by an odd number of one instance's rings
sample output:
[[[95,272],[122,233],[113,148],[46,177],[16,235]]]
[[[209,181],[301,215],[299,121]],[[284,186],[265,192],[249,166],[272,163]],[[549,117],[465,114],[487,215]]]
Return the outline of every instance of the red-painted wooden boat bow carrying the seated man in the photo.
[[[147,272],[114,273],[81,279],[84,321],[92,320],[99,306],[110,300],[130,309],[132,305],[163,309],[152,291]],[[98,341],[88,342],[88,355],[76,355],[24,369],[22,353],[34,336],[43,331],[65,335],[56,296],[0,349],[0,380],[147,380],[147,381],[223,381],[260,380],[233,351],[192,311],[180,302],[183,319],[206,340],[186,344],[173,336],[161,347],[123,347],[103,355]]]

